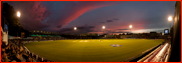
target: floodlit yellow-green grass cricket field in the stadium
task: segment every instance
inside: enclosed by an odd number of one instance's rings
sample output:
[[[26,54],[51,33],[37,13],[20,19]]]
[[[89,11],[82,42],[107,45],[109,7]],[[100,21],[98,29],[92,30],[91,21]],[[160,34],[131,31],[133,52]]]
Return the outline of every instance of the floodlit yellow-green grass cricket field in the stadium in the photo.
[[[78,39],[31,42],[25,46],[35,54],[56,62],[120,62],[136,56],[164,40]],[[119,44],[121,47],[112,47]]]

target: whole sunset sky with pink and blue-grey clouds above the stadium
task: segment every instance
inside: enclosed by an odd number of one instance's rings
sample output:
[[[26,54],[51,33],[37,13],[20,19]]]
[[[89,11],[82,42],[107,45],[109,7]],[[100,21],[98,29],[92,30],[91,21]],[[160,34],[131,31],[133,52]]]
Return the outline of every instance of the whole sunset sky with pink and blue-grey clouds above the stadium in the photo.
[[[20,23],[29,31],[105,33],[169,29],[175,1],[36,1],[7,2],[21,13]],[[77,27],[77,30],[73,30]]]

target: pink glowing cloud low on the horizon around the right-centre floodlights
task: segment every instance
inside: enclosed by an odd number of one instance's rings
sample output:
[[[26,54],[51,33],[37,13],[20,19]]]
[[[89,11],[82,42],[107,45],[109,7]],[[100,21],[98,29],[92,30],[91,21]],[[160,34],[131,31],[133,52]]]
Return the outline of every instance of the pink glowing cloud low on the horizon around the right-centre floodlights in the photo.
[[[115,23],[118,23],[118,22],[115,22]],[[146,27],[146,21],[144,19],[140,19],[140,20],[137,20],[135,22],[132,22],[132,23],[128,23],[128,22],[120,22],[120,23],[124,23],[124,24],[116,24],[116,25],[105,25],[106,26],[106,29],[105,29],[105,32],[106,33],[111,33],[111,32],[130,32],[130,28],[129,28],[129,25],[132,25],[133,28],[131,29],[132,31],[136,31],[136,30],[140,30],[140,29],[145,29]],[[96,25],[95,28],[93,29],[94,31],[97,31],[98,33],[99,32],[103,32],[102,30],[102,25]],[[118,30],[118,29],[126,29],[126,30]],[[128,30],[127,30],[128,29]],[[97,33],[97,32],[94,32],[94,33]],[[93,32],[90,32],[90,33],[93,33]]]

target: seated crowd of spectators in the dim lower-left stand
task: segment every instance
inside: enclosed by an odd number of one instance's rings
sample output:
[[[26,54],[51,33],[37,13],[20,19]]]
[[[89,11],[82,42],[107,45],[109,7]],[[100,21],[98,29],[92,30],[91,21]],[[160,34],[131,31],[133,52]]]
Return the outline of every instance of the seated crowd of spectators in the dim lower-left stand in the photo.
[[[1,45],[1,61],[2,62],[50,62],[32,53],[25,51],[23,41],[9,40],[8,44],[2,42]]]

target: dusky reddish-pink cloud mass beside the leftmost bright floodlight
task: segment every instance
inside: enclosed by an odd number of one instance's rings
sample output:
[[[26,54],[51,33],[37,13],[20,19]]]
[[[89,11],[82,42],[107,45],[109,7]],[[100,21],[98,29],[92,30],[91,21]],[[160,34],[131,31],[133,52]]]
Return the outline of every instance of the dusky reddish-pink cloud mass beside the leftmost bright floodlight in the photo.
[[[21,8],[20,23],[24,29],[40,30],[49,25],[42,23],[50,16],[50,11],[39,1],[36,2],[20,2],[18,7]],[[16,7],[15,7],[16,8]]]

